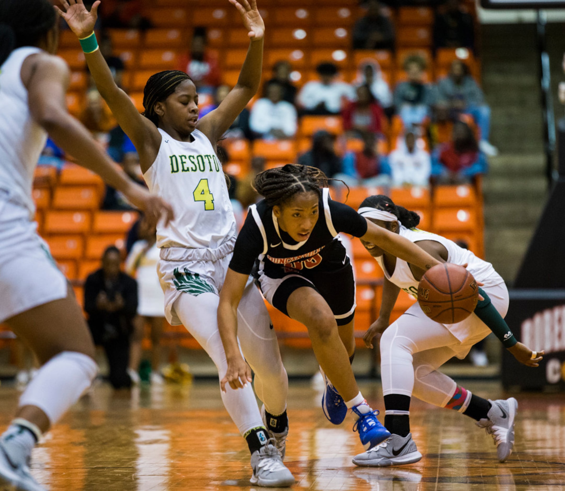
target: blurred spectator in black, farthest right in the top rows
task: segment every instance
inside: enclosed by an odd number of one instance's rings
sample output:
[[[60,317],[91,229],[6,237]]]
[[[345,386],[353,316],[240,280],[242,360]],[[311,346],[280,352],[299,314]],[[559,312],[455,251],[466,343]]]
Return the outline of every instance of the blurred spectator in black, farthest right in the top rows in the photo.
[[[433,24],[433,47],[475,49],[475,25],[472,15],[463,10],[460,0],[447,0]]]

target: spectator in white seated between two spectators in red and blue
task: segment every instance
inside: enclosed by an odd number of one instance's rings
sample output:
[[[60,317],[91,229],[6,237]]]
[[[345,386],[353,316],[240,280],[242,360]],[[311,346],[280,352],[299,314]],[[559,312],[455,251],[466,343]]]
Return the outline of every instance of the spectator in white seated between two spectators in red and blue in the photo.
[[[428,186],[432,172],[429,153],[418,145],[416,135],[408,131],[404,140],[389,155],[392,185]]]

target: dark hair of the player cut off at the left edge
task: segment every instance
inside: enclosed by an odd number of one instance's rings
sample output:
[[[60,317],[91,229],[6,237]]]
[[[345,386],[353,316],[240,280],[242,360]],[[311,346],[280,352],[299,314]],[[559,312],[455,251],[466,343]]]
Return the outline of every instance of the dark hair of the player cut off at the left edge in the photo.
[[[0,65],[21,46],[37,46],[55,26],[49,0],[0,1]]]

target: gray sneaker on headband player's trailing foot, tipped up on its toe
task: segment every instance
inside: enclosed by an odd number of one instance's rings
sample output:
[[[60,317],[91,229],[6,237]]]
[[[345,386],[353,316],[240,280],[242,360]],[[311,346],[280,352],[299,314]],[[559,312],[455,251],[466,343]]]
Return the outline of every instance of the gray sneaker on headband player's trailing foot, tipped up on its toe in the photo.
[[[518,410],[518,401],[510,399],[497,399],[490,401],[492,407],[486,414],[488,419],[480,419],[475,424],[484,428],[487,434],[492,435],[496,453],[500,462],[505,462],[514,447],[514,419]]]

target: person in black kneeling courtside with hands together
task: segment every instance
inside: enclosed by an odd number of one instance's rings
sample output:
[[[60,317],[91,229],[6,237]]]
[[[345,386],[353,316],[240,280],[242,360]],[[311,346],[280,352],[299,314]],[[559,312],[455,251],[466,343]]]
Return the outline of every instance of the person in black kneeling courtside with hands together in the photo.
[[[115,389],[131,386],[127,368],[129,337],[137,312],[137,283],[120,271],[120,251],[108,247],[102,255],[102,268],[86,279],[84,310],[94,343],[106,352]]]

